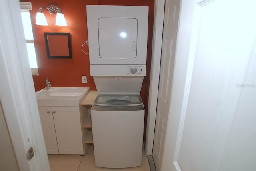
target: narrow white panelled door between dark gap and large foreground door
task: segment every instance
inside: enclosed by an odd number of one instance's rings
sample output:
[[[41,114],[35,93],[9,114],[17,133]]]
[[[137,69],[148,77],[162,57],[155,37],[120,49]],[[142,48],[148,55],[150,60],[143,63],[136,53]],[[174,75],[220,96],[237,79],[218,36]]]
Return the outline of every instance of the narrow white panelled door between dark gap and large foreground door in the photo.
[[[180,0],[166,0],[158,106],[156,110],[156,126],[153,145],[153,159],[158,171],[160,171],[162,163],[166,126],[171,103],[179,6]]]

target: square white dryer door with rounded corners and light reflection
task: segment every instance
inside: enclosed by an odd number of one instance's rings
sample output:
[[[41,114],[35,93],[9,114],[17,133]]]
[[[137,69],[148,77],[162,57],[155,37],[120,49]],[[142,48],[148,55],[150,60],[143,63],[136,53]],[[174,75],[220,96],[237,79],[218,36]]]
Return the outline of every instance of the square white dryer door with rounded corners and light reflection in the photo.
[[[136,58],[137,27],[135,18],[99,18],[100,58]]]

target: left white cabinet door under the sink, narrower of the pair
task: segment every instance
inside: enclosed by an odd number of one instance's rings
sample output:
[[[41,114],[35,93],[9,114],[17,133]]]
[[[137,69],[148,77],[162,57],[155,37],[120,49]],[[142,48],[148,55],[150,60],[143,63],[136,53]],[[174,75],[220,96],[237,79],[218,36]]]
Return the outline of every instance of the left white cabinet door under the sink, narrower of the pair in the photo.
[[[59,154],[52,107],[38,106],[47,154]]]

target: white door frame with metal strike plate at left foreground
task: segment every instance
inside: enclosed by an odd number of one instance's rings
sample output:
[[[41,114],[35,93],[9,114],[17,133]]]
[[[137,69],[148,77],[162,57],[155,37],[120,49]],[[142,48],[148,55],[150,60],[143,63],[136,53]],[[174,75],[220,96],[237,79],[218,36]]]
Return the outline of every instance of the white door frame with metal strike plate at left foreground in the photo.
[[[50,171],[18,0],[0,2],[0,99],[20,171]],[[34,157],[28,161],[28,149]]]

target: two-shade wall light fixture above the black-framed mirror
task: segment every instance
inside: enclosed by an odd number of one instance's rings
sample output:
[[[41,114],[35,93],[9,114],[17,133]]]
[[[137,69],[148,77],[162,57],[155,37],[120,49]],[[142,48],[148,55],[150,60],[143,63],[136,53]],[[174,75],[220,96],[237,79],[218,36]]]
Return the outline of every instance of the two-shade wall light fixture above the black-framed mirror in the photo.
[[[48,23],[46,21],[46,18],[44,16],[44,13],[42,12],[42,9],[47,9],[47,11],[54,15],[56,14],[56,22],[55,25],[57,26],[67,26],[64,14],[60,10],[58,6],[50,5],[48,7],[40,7],[36,13],[36,24],[42,25],[42,26],[48,26]]]

